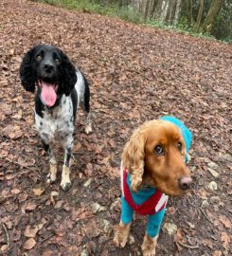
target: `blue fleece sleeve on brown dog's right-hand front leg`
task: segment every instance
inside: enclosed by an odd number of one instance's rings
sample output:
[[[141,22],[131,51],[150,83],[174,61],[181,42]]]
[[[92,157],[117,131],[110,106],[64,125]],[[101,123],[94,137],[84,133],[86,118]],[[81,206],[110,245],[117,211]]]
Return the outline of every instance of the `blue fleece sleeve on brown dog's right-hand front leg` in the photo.
[[[163,209],[149,216],[147,225],[147,233],[149,234],[149,236],[155,237],[159,233],[165,211],[166,209]]]

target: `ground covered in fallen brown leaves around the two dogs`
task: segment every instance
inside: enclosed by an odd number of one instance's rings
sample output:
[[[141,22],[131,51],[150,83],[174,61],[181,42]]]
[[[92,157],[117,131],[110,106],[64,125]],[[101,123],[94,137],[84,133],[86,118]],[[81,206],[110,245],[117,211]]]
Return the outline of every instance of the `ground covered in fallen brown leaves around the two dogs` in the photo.
[[[232,46],[26,0],[1,0],[0,34],[0,255],[141,255],[143,217],[125,248],[112,241],[120,155],[135,127],[167,114],[193,134],[194,188],[170,199],[157,255],[232,254]],[[33,95],[19,80],[39,43],[61,47],[91,83],[94,132],[80,112],[68,192],[61,174],[45,186]]]

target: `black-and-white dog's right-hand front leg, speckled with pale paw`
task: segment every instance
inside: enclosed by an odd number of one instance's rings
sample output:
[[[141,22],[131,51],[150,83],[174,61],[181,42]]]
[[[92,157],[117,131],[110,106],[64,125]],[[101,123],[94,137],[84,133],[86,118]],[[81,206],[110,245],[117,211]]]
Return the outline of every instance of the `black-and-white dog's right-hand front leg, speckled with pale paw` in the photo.
[[[63,191],[68,191],[72,185],[70,180],[70,159],[72,156],[72,147],[73,147],[73,137],[69,136],[66,139],[64,146],[65,155],[64,155],[64,164],[62,165],[62,182],[61,187]]]

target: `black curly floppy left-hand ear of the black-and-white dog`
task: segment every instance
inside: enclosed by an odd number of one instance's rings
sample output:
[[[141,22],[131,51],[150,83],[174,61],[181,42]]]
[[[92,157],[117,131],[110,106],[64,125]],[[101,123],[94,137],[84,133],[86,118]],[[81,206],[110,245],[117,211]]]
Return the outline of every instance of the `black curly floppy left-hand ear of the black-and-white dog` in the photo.
[[[24,88],[29,92],[35,91],[36,74],[32,67],[32,59],[34,55],[35,47],[27,51],[23,58],[22,64],[20,65],[20,79]]]

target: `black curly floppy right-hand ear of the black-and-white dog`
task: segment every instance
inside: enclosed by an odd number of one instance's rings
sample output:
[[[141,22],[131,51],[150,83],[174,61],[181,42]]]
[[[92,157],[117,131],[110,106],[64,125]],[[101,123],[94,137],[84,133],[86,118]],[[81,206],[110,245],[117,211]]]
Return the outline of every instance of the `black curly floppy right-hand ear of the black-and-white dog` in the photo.
[[[62,74],[62,91],[68,96],[77,82],[77,74],[75,66],[71,64],[68,57],[63,52],[61,52],[61,55],[62,64],[60,65],[60,70]]]

